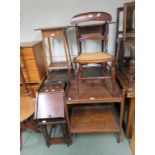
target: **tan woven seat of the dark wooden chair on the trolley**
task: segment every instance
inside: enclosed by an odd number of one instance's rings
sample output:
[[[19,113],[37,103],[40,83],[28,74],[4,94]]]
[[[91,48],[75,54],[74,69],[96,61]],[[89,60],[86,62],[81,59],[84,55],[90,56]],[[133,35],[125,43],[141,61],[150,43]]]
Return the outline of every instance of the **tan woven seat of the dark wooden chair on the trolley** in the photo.
[[[113,60],[114,56],[104,52],[82,53],[75,58],[75,61],[79,63],[103,63]]]

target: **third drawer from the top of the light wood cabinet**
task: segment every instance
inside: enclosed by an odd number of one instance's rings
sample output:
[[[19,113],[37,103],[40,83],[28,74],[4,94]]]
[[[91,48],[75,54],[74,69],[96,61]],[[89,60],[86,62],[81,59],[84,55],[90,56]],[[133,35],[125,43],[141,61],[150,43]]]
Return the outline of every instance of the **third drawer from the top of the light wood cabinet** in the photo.
[[[27,83],[36,83],[41,80],[38,71],[23,71],[23,74]]]

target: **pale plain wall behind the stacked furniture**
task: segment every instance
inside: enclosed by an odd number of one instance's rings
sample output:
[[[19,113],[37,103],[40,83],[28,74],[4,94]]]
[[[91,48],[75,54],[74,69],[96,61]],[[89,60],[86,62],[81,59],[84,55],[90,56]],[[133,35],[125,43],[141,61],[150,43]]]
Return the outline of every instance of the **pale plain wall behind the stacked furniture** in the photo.
[[[116,21],[116,9],[123,3],[133,0],[21,0],[21,42],[41,40],[41,32],[34,31],[40,27],[69,25],[75,14],[88,11],[105,11]],[[114,52],[115,24],[110,24],[108,52]],[[77,54],[74,30],[68,33],[72,55]],[[72,41],[72,43],[71,43]],[[55,44],[56,50],[62,55],[62,47]],[[100,50],[98,43],[85,45],[87,51]],[[59,55],[58,54],[58,55]]]

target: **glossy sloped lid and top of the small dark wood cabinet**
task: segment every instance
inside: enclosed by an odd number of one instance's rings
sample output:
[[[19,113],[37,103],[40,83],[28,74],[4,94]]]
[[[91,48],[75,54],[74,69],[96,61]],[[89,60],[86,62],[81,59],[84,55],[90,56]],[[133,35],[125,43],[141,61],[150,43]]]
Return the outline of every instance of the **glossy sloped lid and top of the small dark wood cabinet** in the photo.
[[[64,83],[44,84],[39,90],[35,119],[64,118]]]

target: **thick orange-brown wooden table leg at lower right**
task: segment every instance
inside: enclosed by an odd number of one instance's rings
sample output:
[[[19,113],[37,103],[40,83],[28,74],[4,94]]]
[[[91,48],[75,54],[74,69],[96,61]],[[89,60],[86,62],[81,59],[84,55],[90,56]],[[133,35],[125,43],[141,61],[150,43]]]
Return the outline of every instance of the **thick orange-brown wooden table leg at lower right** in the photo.
[[[132,137],[134,114],[135,114],[135,98],[131,98],[129,103],[127,125],[126,125],[126,132],[125,132],[125,135],[127,138]]]

